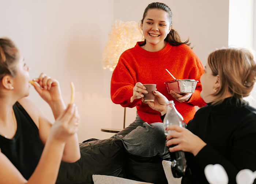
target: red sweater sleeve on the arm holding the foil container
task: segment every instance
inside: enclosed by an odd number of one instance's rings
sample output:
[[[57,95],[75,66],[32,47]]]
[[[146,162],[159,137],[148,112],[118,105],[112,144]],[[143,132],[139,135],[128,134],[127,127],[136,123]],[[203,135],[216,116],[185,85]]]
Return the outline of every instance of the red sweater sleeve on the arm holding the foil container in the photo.
[[[189,78],[197,80],[195,92],[191,95],[190,99],[186,103],[191,103],[194,106],[203,107],[206,105],[205,101],[201,98],[200,92],[202,91],[202,85],[200,83],[200,77],[204,73],[204,67],[197,57],[197,55],[192,51],[192,57],[189,61]]]

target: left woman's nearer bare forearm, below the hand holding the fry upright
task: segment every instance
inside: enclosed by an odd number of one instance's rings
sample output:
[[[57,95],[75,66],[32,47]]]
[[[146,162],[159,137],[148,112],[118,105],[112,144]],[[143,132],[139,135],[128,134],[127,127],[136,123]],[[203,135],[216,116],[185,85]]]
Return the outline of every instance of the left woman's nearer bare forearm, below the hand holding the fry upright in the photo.
[[[56,182],[65,143],[50,137],[47,139],[41,158],[28,184],[54,184]]]

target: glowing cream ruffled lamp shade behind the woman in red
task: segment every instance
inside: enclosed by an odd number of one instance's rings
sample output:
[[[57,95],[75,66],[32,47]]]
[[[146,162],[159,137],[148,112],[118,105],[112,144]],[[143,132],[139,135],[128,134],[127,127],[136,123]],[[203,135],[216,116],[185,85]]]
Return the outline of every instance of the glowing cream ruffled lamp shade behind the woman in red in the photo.
[[[117,19],[111,28],[108,42],[104,48],[102,68],[109,68],[110,71],[113,71],[120,55],[141,40],[142,34],[139,31],[138,23],[135,21],[123,22]]]

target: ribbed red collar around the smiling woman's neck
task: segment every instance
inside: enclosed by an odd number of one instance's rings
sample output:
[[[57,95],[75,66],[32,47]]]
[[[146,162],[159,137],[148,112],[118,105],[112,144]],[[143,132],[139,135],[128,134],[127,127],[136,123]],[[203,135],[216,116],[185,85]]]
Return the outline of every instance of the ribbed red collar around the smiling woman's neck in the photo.
[[[167,42],[165,48],[163,48],[162,50],[159,50],[157,52],[149,52],[149,51],[142,49],[142,47],[140,47],[140,45],[142,45],[142,43],[143,42],[137,42],[135,45],[135,50],[138,53],[144,55],[145,57],[159,57],[159,56],[165,55],[172,48],[172,45],[170,45],[170,43]]]

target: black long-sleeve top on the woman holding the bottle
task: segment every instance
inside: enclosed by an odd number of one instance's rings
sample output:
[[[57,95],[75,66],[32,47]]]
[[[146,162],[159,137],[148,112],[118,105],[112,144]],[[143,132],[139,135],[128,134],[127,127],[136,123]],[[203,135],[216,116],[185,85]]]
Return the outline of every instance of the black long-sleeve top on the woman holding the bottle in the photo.
[[[230,184],[236,183],[240,170],[256,170],[256,109],[245,101],[229,97],[216,106],[207,104],[196,112],[187,129],[207,145],[196,156],[186,153],[191,174],[186,172],[182,184],[208,183],[204,175],[208,164],[221,164]]]

